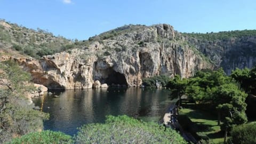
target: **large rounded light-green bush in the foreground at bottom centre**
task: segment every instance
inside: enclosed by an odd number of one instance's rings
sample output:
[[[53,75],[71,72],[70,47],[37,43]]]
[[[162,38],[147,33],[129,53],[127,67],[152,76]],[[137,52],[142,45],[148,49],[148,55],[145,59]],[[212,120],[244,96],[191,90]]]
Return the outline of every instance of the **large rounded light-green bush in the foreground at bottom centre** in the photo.
[[[75,143],[186,143],[174,130],[156,123],[141,122],[128,116],[107,116],[105,124],[79,128]]]

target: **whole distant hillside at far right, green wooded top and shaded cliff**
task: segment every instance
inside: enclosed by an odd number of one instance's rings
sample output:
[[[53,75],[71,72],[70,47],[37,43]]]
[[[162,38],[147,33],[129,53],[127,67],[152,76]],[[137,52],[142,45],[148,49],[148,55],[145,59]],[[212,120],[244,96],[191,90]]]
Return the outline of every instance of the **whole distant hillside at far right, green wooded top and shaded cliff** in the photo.
[[[182,35],[228,75],[235,68],[252,68],[256,65],[256,30]]]

